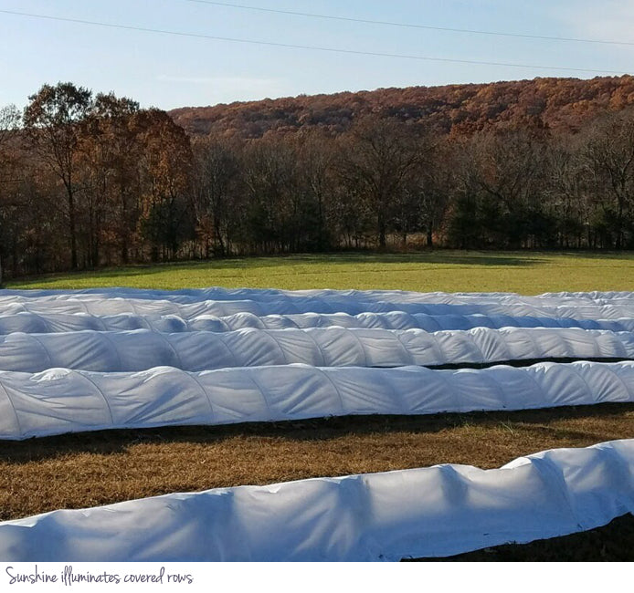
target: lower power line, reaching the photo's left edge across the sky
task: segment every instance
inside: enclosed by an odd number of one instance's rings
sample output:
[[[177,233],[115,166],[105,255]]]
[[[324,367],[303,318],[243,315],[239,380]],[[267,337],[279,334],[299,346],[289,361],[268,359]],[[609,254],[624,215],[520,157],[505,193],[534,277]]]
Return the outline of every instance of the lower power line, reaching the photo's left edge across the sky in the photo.
[[[532,68],[532,69],[544,69],[544,70],[561,70],[568,72],[594,72],[597,74],[625,74],[619,70],[598,70],[594,68],[570,68],[565,66],[543,66],[537,64],[517,64],[513,62],[489,62],[483,60],[474,59],[458,59],[453,57],[430,57],[430,56],[412,56],[407,54],[387,54],[375,51],[362,51],[358,49],[342,49],[336,47],[320,47],[320,46],[301,46],[289,43],[278,43],[275,41],[258,41],[254,39],[240,39],[238,37],[223,37],[204,35],[201,33],[186,33],[182,31],[169,31],[166,29],[154,29],[144,26],[132,26],[132,25],[115,25],[113,23],[102,23],[100,21],[89,21],[79,18],[67,18],[62,16],[50,16],[50,15],[36,15],[34,13],[24,13],[14,10],[0,10],[0,14],[13,15],[13,16],[26,16],[29,18],[39,18],[49,21],[58,21],[62,23],[73,23],[76,25],[90,25],[90,26],[103,26],[112,29],[122,29],[125,31],[137,31],[142,33],[156,33],[161,35],[172,35],[181,37],[194,37],[197,39],[212,39],[215,41],[228,41],[230,43],[243,43],[256,46],[268,46],[268,47],[284,47],[287,49],[307,49],[312,51],[322,51],[336,54],[349,54],[354,56],[371,56],[371,57],[396,57],[403,59],[417,59],[431,62],[445,62],[452,64],[471,64],[478,66],[502,66],[508,68]]]

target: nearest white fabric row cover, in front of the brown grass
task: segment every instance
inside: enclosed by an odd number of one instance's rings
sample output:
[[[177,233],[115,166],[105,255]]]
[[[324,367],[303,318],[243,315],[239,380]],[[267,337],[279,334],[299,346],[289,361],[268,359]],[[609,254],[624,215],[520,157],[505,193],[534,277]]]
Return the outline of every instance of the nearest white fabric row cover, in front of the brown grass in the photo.
[[[376,561],[564,536],[634,513],[634,440],[167,494],[0,523],[4,562]]]

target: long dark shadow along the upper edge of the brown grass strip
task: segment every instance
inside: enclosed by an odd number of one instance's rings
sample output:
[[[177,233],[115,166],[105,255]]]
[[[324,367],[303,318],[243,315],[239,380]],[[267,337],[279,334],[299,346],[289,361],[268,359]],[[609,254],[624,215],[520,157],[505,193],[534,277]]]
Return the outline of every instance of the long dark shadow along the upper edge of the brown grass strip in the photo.
[[[30,463],[74,453],[125,453],[138,443],[214,444],[235,437],[262,437],[285,442],[327,442],[349,436],[392,433],[437,433],[459,427],[503,429],[510,435],[528,432],[557,440],[593,442],[626,438],[618,432],[584,432],[555,425],[560,421],[622,419],[633,403],[602,403],[542,410],[444,413],[425,416],[343,416],[284,422],[251,422],[226,426],[175,426],[143,430],[70,433],[26,441],[0,443],[0,462]],[[632,436],[632,435],[628,435]],[[531,452],[536,453],[536,452]]]

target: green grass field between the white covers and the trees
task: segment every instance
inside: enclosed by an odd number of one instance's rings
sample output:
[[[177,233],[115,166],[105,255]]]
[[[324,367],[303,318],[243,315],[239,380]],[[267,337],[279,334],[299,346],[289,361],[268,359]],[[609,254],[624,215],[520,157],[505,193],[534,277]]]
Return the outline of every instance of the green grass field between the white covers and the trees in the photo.
[[[290,255],[40,276],[10,288],[203,286],[401,289],[421,292],[634,290],[634,254],[435,251],[423,254]]]

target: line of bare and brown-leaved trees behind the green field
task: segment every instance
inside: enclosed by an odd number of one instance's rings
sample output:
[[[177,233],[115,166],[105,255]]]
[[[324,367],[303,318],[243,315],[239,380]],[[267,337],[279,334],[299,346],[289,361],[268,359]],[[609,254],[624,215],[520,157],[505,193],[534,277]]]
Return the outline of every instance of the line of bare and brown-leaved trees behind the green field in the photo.
[[[634,247],[634,110],[442,133],[385,113],[343,132],[192,138],[160,109],[44,85],[0,109],[12,276],[212,256],[447,246]]]

